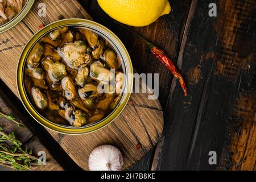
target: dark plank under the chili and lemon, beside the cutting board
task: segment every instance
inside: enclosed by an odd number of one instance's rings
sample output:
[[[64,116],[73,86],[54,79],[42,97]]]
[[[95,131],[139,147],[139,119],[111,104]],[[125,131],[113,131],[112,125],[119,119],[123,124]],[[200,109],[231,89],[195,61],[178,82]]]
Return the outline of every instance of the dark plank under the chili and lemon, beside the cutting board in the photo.
[[[81,1],[82,2],[82,1]],[[159,101],[162,105],[163,111],[168,101],[168,92],[171,87],[172,74],[160,64],[158,60],[152,56],[150,50],[141,40],[139,40],[133,33],[128,32],[114,20],[107,15],[97,1],[91,1],[91,7],[88,10],[89,14],[94,20],[104,24],[110,30],[114,31],[125,44],[133,61],[134,68],[138,73],[159,73]],[[150,26],[146,27],[129,27],[148,40],[154,42],[159,47],[167,52],[173,61],[177,60],[179,53],[180,42],[182,39],[184,22],[187,18],[187,13],[191,1],[170,1],[173,7],[168,15],[164,15]],[[167,42],[167,40],[169,40]],[[151,151],[154,154],[154,151]],[[159,154],[157,154],[159,155]],[[147,155],[136,166],[134,170],[150,170],[152,155]],[[157,160],[156,160],[157,161]],[[156,168],[153,168],[156,169]]]

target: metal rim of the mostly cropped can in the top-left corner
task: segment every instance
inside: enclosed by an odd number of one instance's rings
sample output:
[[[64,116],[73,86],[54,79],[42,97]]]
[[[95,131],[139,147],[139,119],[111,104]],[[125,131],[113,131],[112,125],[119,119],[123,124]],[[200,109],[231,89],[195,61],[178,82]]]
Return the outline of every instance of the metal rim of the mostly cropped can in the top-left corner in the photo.
[[[14,16],[13,19],[0,26],[0,33],[7,31],[18,24],[24,18],[24,16],[27,15],[28,11],[30,11],[31,7],[34,5],[34,2],[35,0],[27,0],[26,4],[22,7],[22,10],[20,10],[20,12]]]

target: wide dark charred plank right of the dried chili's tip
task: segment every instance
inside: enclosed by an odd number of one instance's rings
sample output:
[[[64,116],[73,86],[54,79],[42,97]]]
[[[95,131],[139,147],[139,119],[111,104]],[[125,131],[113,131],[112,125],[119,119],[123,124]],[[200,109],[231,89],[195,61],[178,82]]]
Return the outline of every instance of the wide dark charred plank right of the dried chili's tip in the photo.
[[[241,106],[240,94],[255,101],[255,2],[218,1],[217,17],[208,15],[208,5],[214,1],[192,1],[187,30],[181,43],[178,65],[187,73],[188,96],[183,97],[176,80],[172,82],[166,110],[166,133],[158,169],[217,169],[222,159],[231,156],[232,164],[222,169],[235,169],[248,155],[246,164],[238,169],[253,169],[255,165],[254,114],[237,113],[238,123],[232,123],[233,108]],[[182,46],[184,45],[184,46]],[[254,114],[252,114],[254,113]],[[241,125],[241,126],[240,126]],[[226,142],[233,126],[241,129],[241,137]],[[224,147],[230,145],[231,147]],[[234,146],[236,147],[232,147]],[[246,147],[246,144],[249,145]],[[227,151],[225,151],[228,148]],[[217,152],[217,165],[209,165],[208,152]],[[229,160],[229,159],[228,159]],[[220,165],[221,166],[221,165]]]

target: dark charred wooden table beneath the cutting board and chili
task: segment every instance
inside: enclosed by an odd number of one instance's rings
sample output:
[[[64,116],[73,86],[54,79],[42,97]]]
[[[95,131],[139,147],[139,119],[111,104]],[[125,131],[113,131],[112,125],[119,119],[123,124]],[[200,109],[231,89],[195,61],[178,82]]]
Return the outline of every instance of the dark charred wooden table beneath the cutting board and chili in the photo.
[[[138,73],[159,73],[159,101],[165,117],[163,137],[131,169],[256,169],[254,0],[172,0],[171,14],[147,27],[127,26],[167,52],[185,78],[187,97],[146,45],[114,23],[96,0],[80,2],[96,22],[119,36]],[[216,17],[208,15],[209,3],[216,3]],[[1,86],[7,92],[2,82]],[[6,98],[24,110],[12,93]],[[44,137],[42,127],[35,122],[32,127],[39,139]],[[64,169],[79,169],[72,160],[64,163],[67,155],[59,155],[52,144],[43,144]],[[217,164],[209,164],[210,151],[216,151]]]

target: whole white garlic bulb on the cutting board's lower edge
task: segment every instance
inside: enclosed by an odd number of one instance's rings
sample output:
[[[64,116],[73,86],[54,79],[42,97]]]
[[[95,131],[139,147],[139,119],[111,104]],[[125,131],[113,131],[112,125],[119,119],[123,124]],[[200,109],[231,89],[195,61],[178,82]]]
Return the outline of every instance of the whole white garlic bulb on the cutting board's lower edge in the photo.
[[[118,148],[104,144],[94,148],[89,156],[90,171],[120,171],[123,166],[123,156]]]

